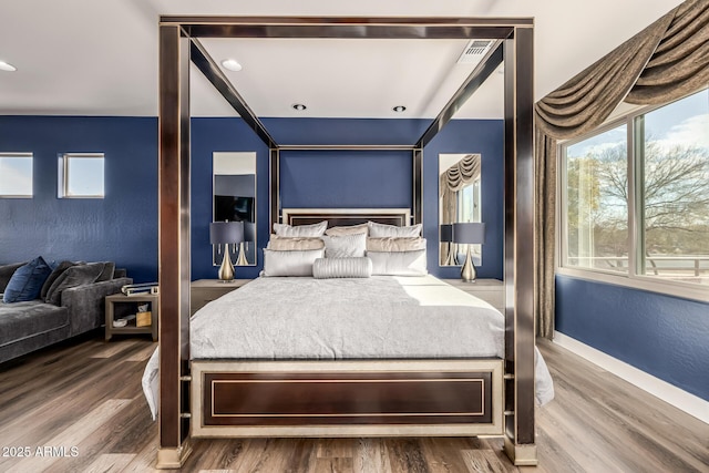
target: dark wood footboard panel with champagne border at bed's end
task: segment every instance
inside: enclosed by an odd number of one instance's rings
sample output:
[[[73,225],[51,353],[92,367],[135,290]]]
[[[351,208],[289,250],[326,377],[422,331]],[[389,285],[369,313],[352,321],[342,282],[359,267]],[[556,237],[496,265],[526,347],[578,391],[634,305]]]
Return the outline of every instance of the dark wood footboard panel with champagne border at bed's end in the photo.
[[[503,361],[192,362],[192,436],[503,434]]]

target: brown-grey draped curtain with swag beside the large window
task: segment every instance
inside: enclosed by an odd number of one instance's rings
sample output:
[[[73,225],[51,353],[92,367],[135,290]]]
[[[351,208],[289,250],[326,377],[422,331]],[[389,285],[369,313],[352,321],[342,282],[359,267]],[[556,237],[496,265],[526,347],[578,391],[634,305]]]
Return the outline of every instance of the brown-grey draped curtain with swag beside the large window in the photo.
[[[661,104],[709,83],[709,1],[687,0],[535,104],[535,319],[554,335],[556,150],[621,102]]]

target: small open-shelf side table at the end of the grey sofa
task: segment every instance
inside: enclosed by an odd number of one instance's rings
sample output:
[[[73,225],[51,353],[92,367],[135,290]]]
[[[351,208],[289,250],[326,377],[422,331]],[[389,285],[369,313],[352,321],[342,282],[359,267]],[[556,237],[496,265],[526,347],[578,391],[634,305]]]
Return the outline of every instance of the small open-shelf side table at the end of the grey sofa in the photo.
[[[134,335],[150,333],[153,341],[157,341],[157,300],[156,294],[135,294],[126,296],[124,294],[114,294],[106,296],[106,341],[111,340],[116,333]],[[147,304],[150,311],[150,325],[138,327],[137,307]],[[117,319],[126,319],[124,327],[116,327]]]

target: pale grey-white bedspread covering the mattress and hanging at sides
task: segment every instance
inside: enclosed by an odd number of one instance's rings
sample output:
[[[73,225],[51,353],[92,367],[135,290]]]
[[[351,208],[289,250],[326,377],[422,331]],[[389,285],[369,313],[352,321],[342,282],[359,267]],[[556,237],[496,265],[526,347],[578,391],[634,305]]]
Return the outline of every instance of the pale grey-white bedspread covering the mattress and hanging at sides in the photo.
[[[504,358],[504,325],[491,305],[433,276],[258,278],[194,315],[191,358]],[[544,404],[554,388],[538,351],[535,361]],[[153,417],[156,366],[154,354],[143,377]]]

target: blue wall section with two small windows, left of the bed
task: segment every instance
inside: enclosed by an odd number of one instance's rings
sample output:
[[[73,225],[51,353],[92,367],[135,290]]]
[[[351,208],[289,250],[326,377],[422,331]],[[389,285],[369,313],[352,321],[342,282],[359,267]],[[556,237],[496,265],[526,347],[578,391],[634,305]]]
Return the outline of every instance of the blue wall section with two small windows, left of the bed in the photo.
[[[113,260],[157,279],[157,119],[0,116],[0,152],[31,152],[33,198],[0,198],[0,263]],[[105,197],[58,198],[58,155],[105,154]]]

